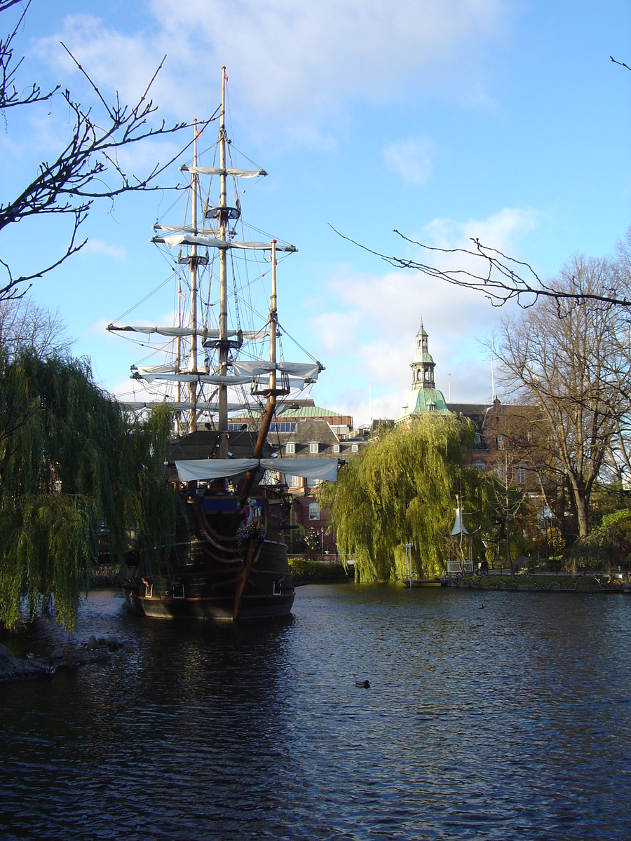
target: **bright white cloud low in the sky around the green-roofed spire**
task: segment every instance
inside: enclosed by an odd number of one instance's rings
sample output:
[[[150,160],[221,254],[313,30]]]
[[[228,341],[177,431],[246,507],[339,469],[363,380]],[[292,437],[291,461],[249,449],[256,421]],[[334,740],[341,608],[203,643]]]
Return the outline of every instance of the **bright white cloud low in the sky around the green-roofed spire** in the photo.
[[[453,248],[467,246],[469,235],[479,235],[480,240],[518,256],[520,236],[535,225],[533,211],[502,209],[485,220],[434,220],[419,240]],[[462,268],[466,260],[438,255],[436,265]],[[490,399],[490,359],[480,341],[504,311],[491,307],[481,294],[453,288],[421,272],[374,274],[350,267],[332,272],[328,287],[331,294],[321,296],[323,309],[311,324],[312,341],[317,339],[318,352],[328,360],[318,384],[322,395],[318,402],[337,405],[350,411],[356,424],[365,423],[370,383],[373,417],[399,415],[411,388],[410,362],[421,318],[436,362],[437,388],[445,399],[450,378],[454,403]],[[331,300],[336,309],[324,309]]]

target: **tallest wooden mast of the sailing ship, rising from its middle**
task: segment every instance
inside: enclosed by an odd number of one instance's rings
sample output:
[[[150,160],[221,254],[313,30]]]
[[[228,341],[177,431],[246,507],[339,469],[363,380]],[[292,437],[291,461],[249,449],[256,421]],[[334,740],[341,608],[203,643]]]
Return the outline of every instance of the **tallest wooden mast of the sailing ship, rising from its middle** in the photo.
[[[222,242],[226,240],[228,227],[228,198],[226,188],[225,172],[225,66],[221,67],[221,113],[219,127],[219,156],[220,156],[220,197],[219,197],[219,238]],[[228,373],[228,254],[226,248],[219,251],[219,289],[220,289],[220,314],[219,314],[219,373],[225,376]],[[219,417],[218,429],[220,431],[220,458],[225,458],[228,450],[228,387],[220,385],[219,389]]]

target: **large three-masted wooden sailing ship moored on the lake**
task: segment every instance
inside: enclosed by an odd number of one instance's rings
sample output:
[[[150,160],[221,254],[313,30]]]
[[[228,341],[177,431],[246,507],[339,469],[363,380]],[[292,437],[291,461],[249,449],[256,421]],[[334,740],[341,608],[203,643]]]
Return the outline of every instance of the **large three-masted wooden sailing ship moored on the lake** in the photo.
[[[147,350],[131,366],[136,393],[123,405],[146,412],[166,404],[174,419],[170,484],[183,514],[172,562],[155,574],[141,557],[125,588],[132,611],[159,618],[288,614],[287,477],[337,478],[337,460],[284,459],[270,442],[277,408],[323,366],[284,361],[277,266],[296,248],[261,239],[241,216],[242,183],[268,173],[237,159],[225,127],[226,81],[222,67],[216,143],[200,151],[195,125],[192,161],[180,167],[188,177],[184,222],[154,225],[152,241],[172,267],[173,323],[108,326]]]

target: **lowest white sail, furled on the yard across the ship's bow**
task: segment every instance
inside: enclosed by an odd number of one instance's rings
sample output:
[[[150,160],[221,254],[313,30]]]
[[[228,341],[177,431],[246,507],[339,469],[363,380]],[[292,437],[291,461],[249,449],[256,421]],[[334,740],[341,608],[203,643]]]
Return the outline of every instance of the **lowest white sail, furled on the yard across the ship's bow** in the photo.
[[[175,463],[180,482],[224,479],[256,470],[259,466],[286,476],[326,482],[337,480],[337,458],[197,458]]]

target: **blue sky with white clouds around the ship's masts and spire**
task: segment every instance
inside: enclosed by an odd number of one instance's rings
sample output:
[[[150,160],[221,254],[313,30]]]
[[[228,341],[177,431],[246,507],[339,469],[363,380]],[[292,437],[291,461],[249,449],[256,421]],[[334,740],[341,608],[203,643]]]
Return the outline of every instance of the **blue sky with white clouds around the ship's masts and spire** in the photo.
[[[131,101],[167,53],[159,114],[202,119],[227,66],[231,137],[269,172],[247,189],[244,214],[299,249],[279,272],[280,319],[326,365],[316,403],[359,424],[399,414],[421,311],[445,397],[451,375],[454,402],[490,399],[480,341],[502,312],[395,271],[330,225],[412,257],[393,229],[448,246],[478,236],[544,277],[576,252],[611,253],[631,224],[631,72],[609,56],[631,65],[629,34],[622,0],[33,0],[20,79],[60,82],[90,101],[64,40],[106,95]],[[68,130],[61,98],[6,118],[3,200]],[[142,172],[176,146],[127,162]],[[179,177],[174,167],[164,181]],[[167,277],[149,237],[171,201],[152,193],[94,209],[84,253],[34,285],[117,394],[138,353],[104,326]],[[66,234],[59,220],[35,220],[5,229],[0,249],[21,272],[60,253]],[[154,295],[135,320],[171,304]]]

